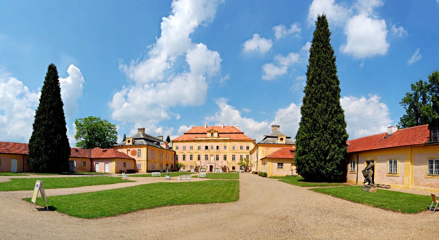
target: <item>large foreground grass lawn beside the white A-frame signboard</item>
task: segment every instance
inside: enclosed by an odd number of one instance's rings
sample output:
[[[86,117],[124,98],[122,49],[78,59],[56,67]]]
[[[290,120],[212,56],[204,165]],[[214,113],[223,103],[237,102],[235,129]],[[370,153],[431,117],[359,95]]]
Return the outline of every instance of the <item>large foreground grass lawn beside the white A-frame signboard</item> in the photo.
[[[152,183],[127,188],[47,197],[50,209],[80,218],[115,216],[167,205],[234,202],[239,181]],[[24,198],[30,202],[30,198]],[[37,204],[42,205],[41,198]]]

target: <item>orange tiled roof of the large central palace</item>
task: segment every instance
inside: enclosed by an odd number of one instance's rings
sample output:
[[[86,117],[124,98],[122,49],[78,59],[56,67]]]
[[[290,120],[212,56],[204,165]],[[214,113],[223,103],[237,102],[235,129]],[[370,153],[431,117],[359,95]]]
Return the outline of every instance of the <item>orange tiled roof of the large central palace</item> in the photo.
[[[237,129],[234,126],[208,126],[207,128],[202,126],[195,126],[189,129],[188,131],[184,132],[182,136],[179,136],[176,139],[173,139],[172,141],[188,141],[188,140],[195,140],[195,138],[205,138],[207,135],[206,133],[209,130],[215,130],[218,131],[218,137],[230,137],[231,140],[253,140],[250,137],[246,136],[244,132]]]

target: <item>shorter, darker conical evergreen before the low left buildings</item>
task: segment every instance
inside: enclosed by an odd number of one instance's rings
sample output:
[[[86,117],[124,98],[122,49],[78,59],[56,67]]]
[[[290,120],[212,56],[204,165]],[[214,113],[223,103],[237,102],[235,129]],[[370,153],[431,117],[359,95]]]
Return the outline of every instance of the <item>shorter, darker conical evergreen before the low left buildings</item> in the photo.
[[[52,63],[47,67],[29,139],[29,163],[34,172],[61,173],[68,169],[70,145],[58,78]]]

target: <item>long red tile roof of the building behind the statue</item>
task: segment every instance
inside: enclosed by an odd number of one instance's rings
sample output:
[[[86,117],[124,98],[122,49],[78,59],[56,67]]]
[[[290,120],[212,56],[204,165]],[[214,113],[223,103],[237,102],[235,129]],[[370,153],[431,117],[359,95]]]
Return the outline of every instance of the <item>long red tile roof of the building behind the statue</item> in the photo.
[[[383,132],[349,140],[347,141],[348,153],[425,144],[430,138],[430,132],[428,125],[421,125],[398,129],[391,135],[386,136],[387,132]]]

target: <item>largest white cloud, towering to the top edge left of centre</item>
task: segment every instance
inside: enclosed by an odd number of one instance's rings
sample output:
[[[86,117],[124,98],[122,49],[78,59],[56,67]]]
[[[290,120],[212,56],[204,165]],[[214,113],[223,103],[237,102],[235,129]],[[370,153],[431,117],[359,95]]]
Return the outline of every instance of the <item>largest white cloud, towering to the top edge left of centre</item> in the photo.
[[[190,35],[200,25],[210,24],[221,0],[174,0],[171,13],[162,18],[161,35],[149,46],[144,59],[121,62],[119,69],[132,81],[114,94],[112,118],[127,122],[158,122],[180,118],[173,106],[194,106],[205,102],[208,77],[218,76],[221,57]],[[174,66],[185,57],[183,66]],[[189,70],[178,70],[187,69]],[[227,79],[227,77],[225,78]],[[141,119],[141,120],[139,120]]]

